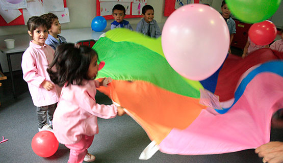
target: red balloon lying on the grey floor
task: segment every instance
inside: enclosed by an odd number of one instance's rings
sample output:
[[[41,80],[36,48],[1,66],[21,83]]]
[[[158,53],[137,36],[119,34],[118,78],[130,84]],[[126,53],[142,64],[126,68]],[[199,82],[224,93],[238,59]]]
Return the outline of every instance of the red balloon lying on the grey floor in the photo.
[[[54,133],[50,131],[37,132],[32,140],[32,149],[34,153],[40,157],[50,157],[54,155],[58,147],[59,142]]]

